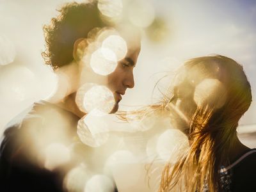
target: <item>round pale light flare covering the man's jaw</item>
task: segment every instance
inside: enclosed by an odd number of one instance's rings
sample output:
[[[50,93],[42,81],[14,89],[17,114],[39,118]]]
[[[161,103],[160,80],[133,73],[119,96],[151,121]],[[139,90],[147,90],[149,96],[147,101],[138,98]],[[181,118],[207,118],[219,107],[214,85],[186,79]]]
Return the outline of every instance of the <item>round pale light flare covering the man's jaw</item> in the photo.
[[[90,113],[94,109],[110,113],[115,106],[115,98],[106,86],[85,83],[77,90],[76,104],[84,113]]]

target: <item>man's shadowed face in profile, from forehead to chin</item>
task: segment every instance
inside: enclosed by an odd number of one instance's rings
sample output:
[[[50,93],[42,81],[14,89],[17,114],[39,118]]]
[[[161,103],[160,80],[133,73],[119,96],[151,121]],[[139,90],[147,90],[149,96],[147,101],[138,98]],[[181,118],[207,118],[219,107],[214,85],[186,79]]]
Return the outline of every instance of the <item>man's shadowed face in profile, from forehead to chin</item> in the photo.
[[[122,95],[125,94],[126,89],[134,87],[133,69],[139,54],[140,45],[129,48],[125,58],[118,61],[115,71],[108,75],[107,86],[113,92],[116,102],[111,113],[115,113],[118,110],[118,102],[122,100]]]

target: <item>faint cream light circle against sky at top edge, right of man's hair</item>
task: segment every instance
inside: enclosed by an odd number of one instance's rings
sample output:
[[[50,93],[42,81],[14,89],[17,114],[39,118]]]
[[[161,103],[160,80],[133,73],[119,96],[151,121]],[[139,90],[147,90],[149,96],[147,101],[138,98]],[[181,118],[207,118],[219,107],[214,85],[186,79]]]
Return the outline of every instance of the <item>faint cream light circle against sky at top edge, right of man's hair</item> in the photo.
[[[129,5],[129,20],[135,26],[147,28],[155,19],[154,6],[148,1],[134,1]]]

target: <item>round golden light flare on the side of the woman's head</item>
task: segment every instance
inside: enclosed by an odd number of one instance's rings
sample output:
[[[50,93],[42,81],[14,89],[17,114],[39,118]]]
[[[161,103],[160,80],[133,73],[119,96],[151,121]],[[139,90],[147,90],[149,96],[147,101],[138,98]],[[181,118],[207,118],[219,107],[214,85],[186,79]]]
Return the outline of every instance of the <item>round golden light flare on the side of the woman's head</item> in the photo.
[[[195,87],[194,100],[197,106],[210,104],[219,109],[227,100],[227,90],[218,79],[204,79]]]

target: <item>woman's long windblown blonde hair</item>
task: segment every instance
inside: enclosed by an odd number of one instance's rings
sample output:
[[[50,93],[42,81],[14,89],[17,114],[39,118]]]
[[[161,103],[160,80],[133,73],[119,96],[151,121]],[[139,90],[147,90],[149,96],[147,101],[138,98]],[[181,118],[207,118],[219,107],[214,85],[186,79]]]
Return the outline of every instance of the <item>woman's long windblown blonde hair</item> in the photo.
[[[177,163],[166,164],[159,192],[172,191],[177,186],[182,191],[218,191],[218,170],[229,163],[227,154],[234,144],[238,121],[252,102],[250,83],[241,65],[221,55],[193,58],[175,78],[180,82],[170,86],[161,106],[164,109],[170,103],[168,95],[179,97],[175,94],[186,87],[186,97],[195,102],[188,116],[189,151]],[[225,91],[217,88],[214,97],[195,99],[195,88],[205,79],[216,79]],[[205,92],[207,95],[207,88]]]

